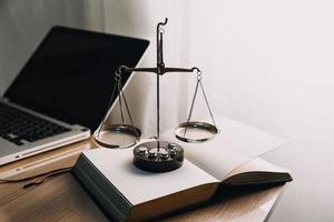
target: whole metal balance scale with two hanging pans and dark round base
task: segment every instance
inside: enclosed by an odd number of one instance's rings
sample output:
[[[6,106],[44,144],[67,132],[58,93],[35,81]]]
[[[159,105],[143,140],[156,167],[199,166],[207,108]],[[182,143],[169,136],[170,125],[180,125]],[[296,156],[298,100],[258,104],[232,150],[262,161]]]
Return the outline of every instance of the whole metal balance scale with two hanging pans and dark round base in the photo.
[[[216,127],[215,119],[202,83],[203,74],[200,70],[197,67],[194,67],[191,69],[165,67],[163,57],[163,36],[165,31],[163,27],[167,24],[167,21],[168,19],[166,18],[164,22],[159,22],[157,24],[157,67],[128,68],[126,65],[120,65],[115,72],[116,84],[112,90],[112,94],[108,107],[110,108],[112,98],[115,93],[118,92],[121,123],[108,124],[107,119],[110,114],[109,111],[104,118],[100,127],[94,133],[96,142],[104,148],[125,149],[135,147],[134,164],[140,170],[149,172],[173,171],[180,168],[184,161],[184,149],[181,148],[181,145],[174,142],[160,140],[160,75],[168,72],[195,72],[197,74],[197,83],[187,121],[178,124],[174,132],[175,137],[178,140],[187,143],[200,143],[213,139],[219,132]],[[141,131],[134,124],[129,105],[127,103],[121,84],[121,74],[126,72],[130,73],[132,71],[153,72],[156,73],[157,77],[157,135],[154,137],[154,140],[143,143],[138,143],[141,138]],[[199,88],[203,92],[213,123],[190,121],[196,95]],[[126,117],[124,110],[126,110],[127,112],[130,124],[126,124]]]

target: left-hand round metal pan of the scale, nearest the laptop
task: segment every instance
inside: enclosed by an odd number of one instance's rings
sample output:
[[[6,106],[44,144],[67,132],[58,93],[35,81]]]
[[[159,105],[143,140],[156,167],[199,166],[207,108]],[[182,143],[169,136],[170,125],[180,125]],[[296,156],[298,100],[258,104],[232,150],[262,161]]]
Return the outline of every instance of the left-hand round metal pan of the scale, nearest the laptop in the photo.
[[[122,149],[135,145],[141,137],[141,131],[128,124],[110,124],[104,127],[94,135],[95,141],[105,148]]]

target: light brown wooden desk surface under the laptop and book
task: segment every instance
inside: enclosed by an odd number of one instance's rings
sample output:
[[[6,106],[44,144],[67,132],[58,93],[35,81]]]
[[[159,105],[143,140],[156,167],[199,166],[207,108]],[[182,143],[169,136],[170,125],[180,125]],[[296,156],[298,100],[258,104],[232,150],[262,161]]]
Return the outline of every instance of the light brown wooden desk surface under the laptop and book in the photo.
[[[53,169],[71,167],[82,150],[96,144],[86,140],[4,167],[0,178],[19,179]],[[38,180],[38,179],[37,179]],[[28,182],[0,184],[1,221],[108,221],[81,184],[65,173],[23,189]],[[167,221],[265,221],[284,185],[234,191],[202,208],[169,216]]]

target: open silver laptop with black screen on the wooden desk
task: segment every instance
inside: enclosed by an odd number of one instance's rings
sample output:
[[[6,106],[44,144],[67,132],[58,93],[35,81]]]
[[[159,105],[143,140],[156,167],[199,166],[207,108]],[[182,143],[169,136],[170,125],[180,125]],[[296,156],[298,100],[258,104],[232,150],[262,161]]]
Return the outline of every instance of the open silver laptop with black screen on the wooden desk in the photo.
[[[0,99],[0,165],[89,138],[109,109],[115,70],[136,67],[148,44],[53,27]]]

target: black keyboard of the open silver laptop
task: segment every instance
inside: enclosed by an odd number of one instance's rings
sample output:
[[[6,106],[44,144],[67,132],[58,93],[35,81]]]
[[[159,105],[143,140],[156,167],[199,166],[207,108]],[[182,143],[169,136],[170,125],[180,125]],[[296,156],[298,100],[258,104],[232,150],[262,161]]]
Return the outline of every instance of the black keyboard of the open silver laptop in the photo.
[[[67,131],[70,129],[0,103],[0,137],[17,145]]]

